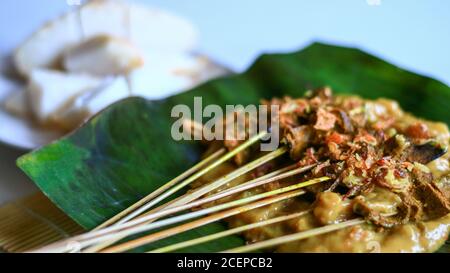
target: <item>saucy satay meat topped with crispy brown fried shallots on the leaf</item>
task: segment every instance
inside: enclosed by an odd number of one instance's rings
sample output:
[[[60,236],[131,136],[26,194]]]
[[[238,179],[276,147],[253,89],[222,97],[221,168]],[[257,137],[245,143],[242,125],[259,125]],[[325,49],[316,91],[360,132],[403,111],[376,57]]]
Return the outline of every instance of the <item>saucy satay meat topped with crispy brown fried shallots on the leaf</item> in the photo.
[[[243,235],[257,242],[327,224],[363,217],[365,224],[281,245],[278,252],[429,252],[450,232],[449,130],[416,118],[392,100],[334,96],[330,88],[304,98],[264,101],[279,106],[280,144],[289,155],[224,185],[249,181],[296,163],[316,164],[306,173],[272,182],[219,202],[247,197],[323,176],[330,181],[306,188],[307,194],[227,219],[231,227],[306,209],[312,212]],[[239,141],[225,141],[232,150]],[[215,148],[217,149],[217,143]],[[222,145],[219,145],[222,146]],[[209,183],[261,153],[251,150],[201,178]],[[237,163],[237,164],[236,164]],[[213,194],[213,193],[211,193]]]

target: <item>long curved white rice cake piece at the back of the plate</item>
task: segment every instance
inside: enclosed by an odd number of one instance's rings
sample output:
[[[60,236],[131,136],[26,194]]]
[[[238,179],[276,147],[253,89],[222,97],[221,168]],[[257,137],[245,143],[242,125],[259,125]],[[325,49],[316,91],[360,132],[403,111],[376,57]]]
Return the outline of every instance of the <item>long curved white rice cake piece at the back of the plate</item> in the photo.
[[[83,40],[111,35],[130,40],[142,51],[191,51],[197,43],[193,25],[168,12],[113,0],[93,0],[47,23],[14,54],[17,70],[54,68],[63,52]]]

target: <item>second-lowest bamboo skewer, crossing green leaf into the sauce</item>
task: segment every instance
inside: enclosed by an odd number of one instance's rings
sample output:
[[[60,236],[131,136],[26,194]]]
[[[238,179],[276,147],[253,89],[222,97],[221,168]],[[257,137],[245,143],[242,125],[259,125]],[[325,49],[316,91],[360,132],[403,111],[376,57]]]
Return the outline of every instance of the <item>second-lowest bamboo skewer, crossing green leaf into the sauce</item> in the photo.
[[[272,218],[272,219],[268,219],[268,220],[264,220],[264,221],[260,221],[260,222],[256,222],[253,224],[248,224],[248,225],[244,225],[244,226],[240,226],[237,228],[233,228],[233,229],[229,229],[229,230],[225,230],[219,233],[214,233],[211,235],[207,235],[207,236],[203,236],[200,238],[195,238],[189,241],[184,241],[181,243],[177,243],[177,244],[173,244],[173,245],[169,245],[169,246],[165,246],[165,247],[161,247],[152,251],[149,251],[148,253],[166,253],[166,252],[171,252],[171,251],[175,251],[178,249],[182,249],[182,248],[186,248],[186,247],[190,247],[193,245],[198,245],[198,244],[202,244],[202,243],[206,243],[212,240],[217,240],[226,236],[230,236],[233,234],[237,234],[237,233],[241,233],[247,230],[251,230],[254,228],[258,228],[258,227],[264,227],[264,226],[268,226],[268,225],[272,225],[275,223],[279,223],[279,222],[283,222],[283,221],[287,221],[290,219],[294,219],[300,216],[303,216],[307,213],[311,212],[311,210],[306,210],[306,211],[302,211],[302,212],[297,212],[297,213],[293,213],[293,214],[289,214],[289,215],[283,215],[280,217],[276,217],[276,218]]]

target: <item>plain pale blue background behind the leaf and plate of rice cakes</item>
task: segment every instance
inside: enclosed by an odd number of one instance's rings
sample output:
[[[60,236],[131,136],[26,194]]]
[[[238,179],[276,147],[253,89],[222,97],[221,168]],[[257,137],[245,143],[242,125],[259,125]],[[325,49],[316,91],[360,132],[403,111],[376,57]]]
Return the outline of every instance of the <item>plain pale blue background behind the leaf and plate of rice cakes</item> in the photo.
[[[381,1],[378,6],[368,2]],[[314,40],[355,45],[450,84],[449,0],[141,0],[190,18],[200,51],[240,71],[262,52]],[[65,0],[1,0],[0,53],[68,9]]]

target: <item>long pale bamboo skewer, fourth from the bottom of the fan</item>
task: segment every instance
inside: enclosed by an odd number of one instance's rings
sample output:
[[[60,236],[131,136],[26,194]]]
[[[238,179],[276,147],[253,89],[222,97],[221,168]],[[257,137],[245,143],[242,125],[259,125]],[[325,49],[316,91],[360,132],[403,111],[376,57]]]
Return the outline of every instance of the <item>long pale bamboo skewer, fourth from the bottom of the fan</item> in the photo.
[[[136,234],[136,233],[149,231],[149,230],[153,230],[153,229],[156,229],[156,228],[161,228],[161,227],[164,227],[164,226],[168,226],[168,225],[171,225],[171,224],[187,221],[187,220],[190,220],[192,218],[197,218],[197,217],[200,217],[200,216],[203,216],[203,215],[206,215],[206,214],[210,214],[210,213],[214,213],[214,212],[217,212],[217,211],[220,211],[220,210],[224,210],[224,209],[228,209],[228,208],[231,208],[231,207],[239,206],[239,205],[246,204],[246,203],[249,203],[249,202],[252,202],[252,201],[256,201],[256,200],[260,200],[260,199],[263,199],[263,198],[267,198],[267,197],[270,197],[270,196],[273,196],[273,195],[282,194],[282,193],[285,193],[285,192],[288,192],[288,191],[297,190],[297,189],[300,189],[302,187],[306,187],[306,186],[309,186],[309,185],[320,183],[320,182],[323,182],[323,181],[326,181],[326,180],[329,180],[329,178],[328,177],[321,177],[321,178],[309,180],[309,181],[298,183],[298,184],[295,184],[295,185],[292,185],[292,186],[288,186],[288,187],[280,188],[280,189],[277,189],[277,190],[273,190],[273,191],[257,194],[257,195],[254,195],[254,196],[250,196],[250,197],[247,197],[247,198],[243,198],[243,199],[231,201],[231,202],[228,202],[228,203],[220,204],[220,205],[217,205],[215,207],[206,208],[206,209],[202,209],[202,210],[199,210],[199,211],[183,214],[183,215],[180,215],[180,216],[167,218],[167,219],[164,219],[164,220],[161,220],[161,221],[157,221],[157,222],[151,223],[149,225],[130,227],[130,228],[125,229],[123,231],[118,231],[118,232],[115,232],[115,233],[112,233],[112,234],[99,235],[98,233],[100,233],[102,230],[97,231],[97,234],[95,232],[90,232],[90,233],[86,233],[84,235],[75,236],[75,237],[73,237],[73,238],[71,238],[69,240],[61,241],[61,242],[55,243],[53,245],[50,245],[50,246],[38,249],[38,250],[36,250],[36,252],[67,252],[67,251],[70,251],[70,249],[67,246],[67,242],[74,242],[74,241],[79,243],[81,248],[85,248],[85,247],[90,246],[92,244],[100,243],[100,242],[103,242],[103,241],[106,241],[106,240],[122,238],[124,236],[130,236],[130,235],[133,235],[133,234]],[[127,224],[130,224],[130,223],[127,223]],[[113,227],[111,227],[111,228],[113,228]],[[95,237],[95,236],[98,236],[98,237]],[[94,237],[94,238],[92,238],[92,237]]]

